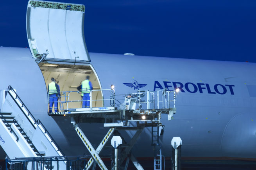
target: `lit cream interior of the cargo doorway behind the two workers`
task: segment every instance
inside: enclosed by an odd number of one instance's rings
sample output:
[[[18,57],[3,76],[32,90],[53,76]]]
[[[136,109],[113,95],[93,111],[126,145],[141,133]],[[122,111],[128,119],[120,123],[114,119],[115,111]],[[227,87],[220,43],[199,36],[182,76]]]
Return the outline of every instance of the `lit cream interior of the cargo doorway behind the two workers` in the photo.
[[[98,76],[90,64],[72,65],[72,64],[56,64],[56,63],[39,63],[39,67],[45,79],[46,87],[54,77],[56,83],[60,87],[61,98],[59,101],[63,103],[63,107],[66,108],[67,103],[64,103],[63,91],[77,91],[77,87],[81,85],[82,81],[86,79],[86,76],[90,76],[90,81],[93,85],[93,89],[101,89],[100,81]],[[93,91],[92,107],[103,107],[102,99],[103,94],[101,91]],[[77,92],[70,93],[69,101],[81,100],[81,94]],[[61,105],[59,102],[59,107]],[[81,108],[82,102],[68,102],[68,108]]]

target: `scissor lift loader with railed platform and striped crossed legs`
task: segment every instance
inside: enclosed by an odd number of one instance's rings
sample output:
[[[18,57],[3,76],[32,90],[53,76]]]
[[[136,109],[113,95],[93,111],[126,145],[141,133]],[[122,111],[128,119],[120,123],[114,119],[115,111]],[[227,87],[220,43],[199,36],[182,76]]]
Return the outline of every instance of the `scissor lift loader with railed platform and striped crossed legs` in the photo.
[[[111,90],[111,89],[107,89]],[[74,91],[77,92],[77,91]],[[162,92],[162,91],[161,91]],[[174,99],[169,100],[170,93],[174,93]],[[107,167],[104,165],[102,159],[99,156],[100,151],[104,148],[106,145],[107,141],[109,138],[112,136],[114,131],[120,135],[118,130],[136,130],[136,133],[134,137],[131,139],[130,143],[128,144],[128,147],[126,147],[123,152],[122,152],[122,162],[125,160],[127,155],[129,154],[130,157],[127,158],[126,163],[125,163],[125,170],[128,167],[129,159],[131,159],[132,163],[134,163],[134,166],[138,170],[143,170],[142,166],[140,163],[138,163],[136,157],[131,153],[131,149],[133,145],[135,144],[137,138],[140,136],[141,132],[145,127],[159,127],[162,126],[160,119],[161,119],[161,114],[168,114],[168,120],[172,119],[172,116],[176,112],[175,108],[175,97],[177,96],[177,93],[175,91],[163,91],[163,94],[168,95],[168,100],[167,95],[163,95],[162,100],[159,101],[159,91],[157,92],[157,108],[150,108],[150,102],[152,103],[152,100],[150,100],[150,96],[152,95],[152,92],[149,91],[138,91],[137,94],[135,95],[138,98],[141,98],[141,93],[146,93],[146,100],[147,102],[141,102],[140,100],[137,101],[139,103],[139,109],[134,110],[131,109],[132,105],[125,105],[124,109],[117,109],[115,107],[115,95],[111,96],[111,100],[113,100],[113,106],[110,107],[91,107],[91,102],[90,101],[90,108],[72,108],[72,109],[66,109],[63,112],[53,112],[49,113],[50,116],[70,116],[71,117],[71,123],[75,127],[75,130],[77,131],[77,134],[81,138],[82,142],[88,149],[88,151],[91,154],[91,158],[88,161],[86,165],[86,170],[93,165],[93,162],[96,161],[98,166],[102,170],[107,170]],[[113,93],[115,94],[115,93]],[[69,96],[69,95],[68,95]],[[126,95],[125,95],[126,96]],[[129,96],[129,95],[128,95]],[[129,96],[131,97],[131,96]],[[90,99],[91,99],[91,93],[90,93]],[[126,97],[127,99],[127,97]],[[127,100],[128,101],[128,100]],[[131,100],[129,100],[131,101]],[[73,102],[73,101],[67,101],[67,102]],[[75,101],[77,102],[77,101]],[[173,107],[170,107],[170,102],[174,102]],[[141,103],[146,103],[147,107],[146,109],[142,109]],[[163,103],[163,108],[159,109],[159,103]],[[130,104],[130,103],[127,103]],[[151,104],[151,107],[153,105]],[[143,116],[145,116],[143,118]],[[98,145],[97,149],[95,150],[93,146],[91,145],[90,141],[86,137],[86,135],[82,132],[81,128],[79,127],[79,123],[104,123],[105,127],[110,127],[109,131],[105,135],[105,137],[102,139],[100,144]],[[129,126],[129,122],[137,122],[136,127]],[[120,135],[121,136],[121,135]],[[152,139],[153,140],[153,139]],[[124,141],[124,139],[123,139]],[[124,141],[124,143],[126,143]]]

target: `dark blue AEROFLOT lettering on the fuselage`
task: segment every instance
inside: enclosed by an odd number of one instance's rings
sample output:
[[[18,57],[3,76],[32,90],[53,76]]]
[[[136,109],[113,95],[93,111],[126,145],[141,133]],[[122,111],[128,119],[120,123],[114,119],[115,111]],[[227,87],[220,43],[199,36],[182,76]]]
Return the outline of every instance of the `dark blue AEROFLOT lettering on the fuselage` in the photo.
[[[226,93],[229,93],[231,95],[234,95],[233,87],[235,85],[230,84],[215,84],[215,85],[209,85],[207,83],[192,83],[192,82],[186,82],[185,84],[181,82],[170,82],[170,81],[163,81],[163,86],[158,81],[155,81],[154,84],[154,91],[158,89],[167,88],[168,90],[173,90],[179,88],[181,92],[189,92],[189,93],[209,93],[209,94],[220,94],[224,95]]]

